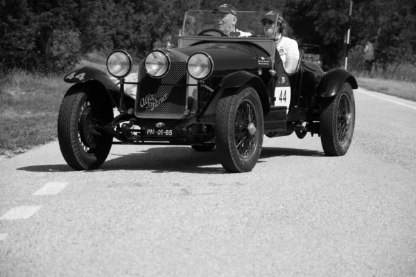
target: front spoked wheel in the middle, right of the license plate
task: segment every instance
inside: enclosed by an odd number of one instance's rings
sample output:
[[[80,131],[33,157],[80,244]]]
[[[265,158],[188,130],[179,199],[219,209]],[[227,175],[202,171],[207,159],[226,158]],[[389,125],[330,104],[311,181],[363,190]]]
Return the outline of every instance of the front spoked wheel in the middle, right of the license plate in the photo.
[[[243,87],[225,91],[216,109],[216,148],[228,172],[248,172],[256,166],[263,145],[263,109],[257,91]]]

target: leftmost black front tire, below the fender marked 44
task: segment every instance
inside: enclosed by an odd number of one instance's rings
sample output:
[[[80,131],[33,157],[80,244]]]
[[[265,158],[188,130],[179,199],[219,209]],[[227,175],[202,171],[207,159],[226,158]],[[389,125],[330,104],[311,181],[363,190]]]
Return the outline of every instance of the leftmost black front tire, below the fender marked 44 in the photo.
[[[93,170],[107,159],[112,136],[94,131],[94,118],[110,122],[114,116],[107,98],[93,96],[87,86],[67,91],[58,114],[58,141],[62,156],[71,168]]]

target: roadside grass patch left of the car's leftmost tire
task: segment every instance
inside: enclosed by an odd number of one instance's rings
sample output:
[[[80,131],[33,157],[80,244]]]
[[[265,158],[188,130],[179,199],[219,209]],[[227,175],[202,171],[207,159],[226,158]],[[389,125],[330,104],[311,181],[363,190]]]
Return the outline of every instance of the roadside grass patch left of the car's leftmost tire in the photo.
[[[60,101],[69,87],[60,75],[14,71],[1,78],[0,156],[56,139]]]

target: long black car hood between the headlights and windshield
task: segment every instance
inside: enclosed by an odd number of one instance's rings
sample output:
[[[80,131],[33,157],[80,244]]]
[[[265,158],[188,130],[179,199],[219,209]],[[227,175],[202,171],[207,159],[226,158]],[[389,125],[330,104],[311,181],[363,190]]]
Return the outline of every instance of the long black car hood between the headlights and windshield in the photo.
[[[171,52],[182,56],[184,60],[197,52],[207,53],[214,62],[214,71],[251,71],[259,67],[271,67],[266,51],[249,43],[206,43],[171,49]]]

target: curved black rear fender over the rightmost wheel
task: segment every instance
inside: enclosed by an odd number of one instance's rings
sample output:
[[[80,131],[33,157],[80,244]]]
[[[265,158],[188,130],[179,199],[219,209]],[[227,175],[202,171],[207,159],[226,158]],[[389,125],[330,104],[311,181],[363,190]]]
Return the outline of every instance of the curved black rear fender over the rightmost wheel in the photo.
[[[322,98],[336,96],[345,82],[349,82],[352,89],[358,89],[356,78],[349,71],[333,69],[324,75],[316,88],[315,94],[317,97]]]

